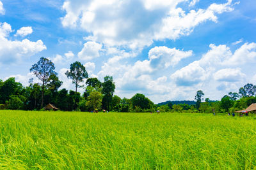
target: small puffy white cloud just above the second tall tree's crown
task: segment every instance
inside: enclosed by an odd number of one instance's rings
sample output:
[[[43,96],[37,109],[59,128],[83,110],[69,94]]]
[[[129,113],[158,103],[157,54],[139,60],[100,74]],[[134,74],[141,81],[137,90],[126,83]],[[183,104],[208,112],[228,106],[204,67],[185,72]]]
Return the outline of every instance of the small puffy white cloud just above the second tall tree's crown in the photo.
[[[93,41],[88,41],[84,43],[84,47],[81,52],[78,53],[78,58],[81,60],[92,60],[94,58],[100,57],[100,50],[102,45]]]

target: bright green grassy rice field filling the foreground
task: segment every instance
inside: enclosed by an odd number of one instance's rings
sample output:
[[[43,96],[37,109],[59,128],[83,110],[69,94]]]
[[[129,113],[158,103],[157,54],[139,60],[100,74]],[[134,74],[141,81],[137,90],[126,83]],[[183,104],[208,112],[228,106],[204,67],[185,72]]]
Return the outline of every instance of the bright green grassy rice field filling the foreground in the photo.
[[[256,120],[0,111],[0,169],[255,169]]]

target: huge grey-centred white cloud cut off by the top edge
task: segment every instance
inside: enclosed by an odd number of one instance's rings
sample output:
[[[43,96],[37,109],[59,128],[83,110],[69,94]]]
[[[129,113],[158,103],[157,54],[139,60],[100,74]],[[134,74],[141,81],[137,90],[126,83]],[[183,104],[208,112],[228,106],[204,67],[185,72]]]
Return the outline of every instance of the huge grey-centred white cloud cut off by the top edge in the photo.
[[[217,22],[217,14],[232,11],[232,1],[211,4],[207,9],[186,13],[177,5],[187,0],[161,1],[70,1],[66,0],[61,18],[64,27],[90,32],[87,40],[107,46],[141,50],[154,40],[177,39],[207,20]],[[191,4],[196,1],[191,1]],[[136,8],[134,8],[136,6]]]

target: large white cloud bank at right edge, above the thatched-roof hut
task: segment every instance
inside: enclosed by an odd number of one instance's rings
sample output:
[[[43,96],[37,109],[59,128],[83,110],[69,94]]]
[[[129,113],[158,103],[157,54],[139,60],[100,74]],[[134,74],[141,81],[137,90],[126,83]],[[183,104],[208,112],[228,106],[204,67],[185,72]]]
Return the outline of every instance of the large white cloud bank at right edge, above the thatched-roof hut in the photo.
[[[200,60],[191,62],[170,76],[177,86],[188,86],[194,91],[204,87],[212,97],[220,97],[225,92],[237,91],[244,82],[251,81],[250,77],[255,73],[248,66],[256,64],[256,43],[244,43],[235,52],[231,52],[226,45],[212,44],[209,47],[211,50]],[[249,73],[248,69],[251,70]]]

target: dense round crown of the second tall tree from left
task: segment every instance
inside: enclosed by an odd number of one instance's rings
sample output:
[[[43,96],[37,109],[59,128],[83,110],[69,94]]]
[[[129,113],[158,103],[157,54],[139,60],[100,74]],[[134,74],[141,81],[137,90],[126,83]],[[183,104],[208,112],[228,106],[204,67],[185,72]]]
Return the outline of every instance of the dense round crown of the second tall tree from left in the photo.
[[[83,82],[84,78],[88,78],[85,67],[79,61],[70,64],[70,71],[67,71],[65,74],[68,78],[72,79],[72,83],[76,85],[76,92],[77,87],[81,87],[79,83]]]

